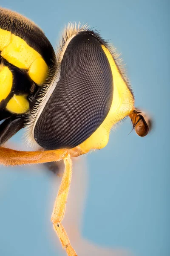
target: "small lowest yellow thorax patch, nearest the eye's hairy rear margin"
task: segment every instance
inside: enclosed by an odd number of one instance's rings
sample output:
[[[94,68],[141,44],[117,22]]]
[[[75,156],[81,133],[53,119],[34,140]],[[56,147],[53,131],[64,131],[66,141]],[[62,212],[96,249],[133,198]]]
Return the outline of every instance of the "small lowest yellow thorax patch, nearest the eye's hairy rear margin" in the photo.
[[[9,100],[6,109],[11,113],[23,114],[26,113],[29,109],[29,102],[26,99],[26,94],[24,95],[15,95]]]

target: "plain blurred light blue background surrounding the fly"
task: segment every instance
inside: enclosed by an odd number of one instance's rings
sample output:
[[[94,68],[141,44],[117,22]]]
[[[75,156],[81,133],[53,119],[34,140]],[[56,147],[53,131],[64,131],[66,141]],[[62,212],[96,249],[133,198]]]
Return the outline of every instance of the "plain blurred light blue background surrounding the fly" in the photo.
[[[88,188],[80,231],[96,248],[111,248],[108,255],[120,255],[115,248],[136,256],[170,253],[168,2],[0,0],[1,6],[34,20],[54,47],[69,21],[99,29],[123,53],[136,106],[153,117],[154,128],[147,137],[134,131],[127,136],[127,119],[111,132],[107,147],[81,160],[87,175],[82,172],[78,187],[81,190],[88,180]],[[21,135],[11,143],[20,144]],[[50,222],[58,180],[41,165],[0,167],[0,255],[66,255],[55,243]],[[79,249],[79,256],[92,255],[89,248],[85,246],[84,254]]]

